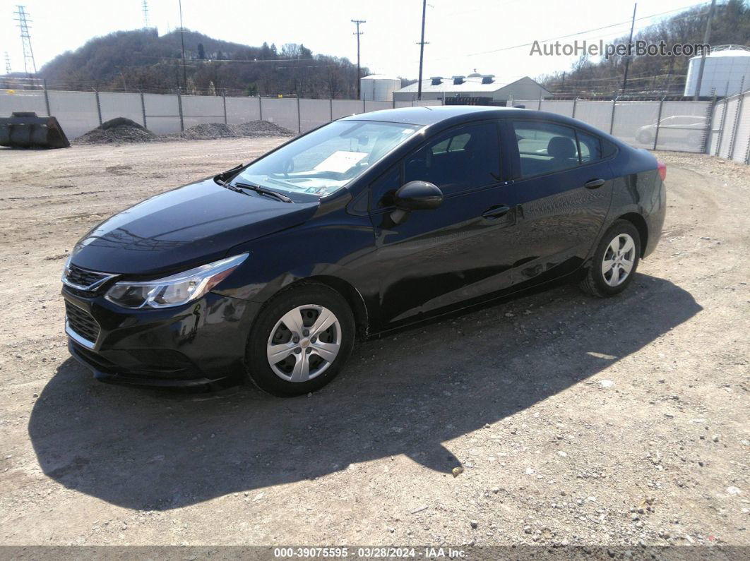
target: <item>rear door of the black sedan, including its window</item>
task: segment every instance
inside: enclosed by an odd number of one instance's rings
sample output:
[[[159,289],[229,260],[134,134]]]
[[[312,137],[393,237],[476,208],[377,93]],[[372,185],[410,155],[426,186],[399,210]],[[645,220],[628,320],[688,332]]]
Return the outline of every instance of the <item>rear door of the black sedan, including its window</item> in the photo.
[[[597,239],[612,198],[598,136],[553,121],[506,122],[517,207],[513,284],[534,285],[575,270]],[[611,147],[609,143],[606,143]]]

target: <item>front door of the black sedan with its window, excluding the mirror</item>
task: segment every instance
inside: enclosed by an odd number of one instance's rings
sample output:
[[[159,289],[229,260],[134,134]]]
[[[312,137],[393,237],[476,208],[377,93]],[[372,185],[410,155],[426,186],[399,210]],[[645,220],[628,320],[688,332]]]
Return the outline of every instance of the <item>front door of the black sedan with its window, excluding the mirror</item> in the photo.
[[[497,121],[466,124],[428,140],[371,185],[384,329],[510,287],[504,240],[515,212],[505,204],[501,157]],[[443,204],[394,224],[393,194],[417,180],[440,187]]]

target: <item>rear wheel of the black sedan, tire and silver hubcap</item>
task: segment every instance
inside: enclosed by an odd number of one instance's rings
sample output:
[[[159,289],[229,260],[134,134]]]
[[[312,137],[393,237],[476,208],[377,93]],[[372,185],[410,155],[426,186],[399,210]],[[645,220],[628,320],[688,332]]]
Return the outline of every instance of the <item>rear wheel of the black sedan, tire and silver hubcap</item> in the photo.
[[[632,222],[616,220],[601,237],[580,288],[599,298],[619,294],[632,282],[638,261],[640,234]]]

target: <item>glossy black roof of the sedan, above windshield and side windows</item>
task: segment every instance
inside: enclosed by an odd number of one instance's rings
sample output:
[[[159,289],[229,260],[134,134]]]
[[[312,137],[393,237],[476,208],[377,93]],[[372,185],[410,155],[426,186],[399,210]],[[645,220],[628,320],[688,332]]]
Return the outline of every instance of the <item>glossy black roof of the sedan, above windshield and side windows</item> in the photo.
[[[385,121],[420,126],[439,124],[439,128],[443,128],[443,126],[447,127],[449,125],[461,124],[463,122],[500,117],[532,119],[535,121],[555,121],[559,124],[567,124],[570,127],[588,130],[598,136],[603,136],[618,146],[623,145],[623,143],[615,137],[605,133],[603,130],[592,127],[583,121],[578,121],[577,119],[566,117],[565,115],[559,115],[558,113],[535,111],[533,109],[520,109],[517,107],[472,105],[402,107],[399,109],[383,109],[381,111],[359,113],[357,115],[350,115],[341,118],[339,121]]]

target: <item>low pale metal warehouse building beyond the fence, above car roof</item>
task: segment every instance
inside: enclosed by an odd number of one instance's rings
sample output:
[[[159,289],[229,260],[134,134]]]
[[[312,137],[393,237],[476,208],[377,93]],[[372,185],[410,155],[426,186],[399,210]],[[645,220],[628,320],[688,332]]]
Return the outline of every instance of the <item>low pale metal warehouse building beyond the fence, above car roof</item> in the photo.
[[[417,82],[393,92],[396,101],[414,101],[417,99]],[[515,82],[496,82],[494,74],[471,73],[468,76],[433,76],[422,80],[423,100],[447,100],[452,97],[490,97],[493,101],[538,100],[548,97],[550,92],[534,82],[529,76],[523,76]]]

